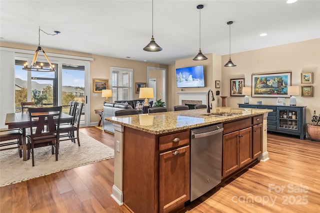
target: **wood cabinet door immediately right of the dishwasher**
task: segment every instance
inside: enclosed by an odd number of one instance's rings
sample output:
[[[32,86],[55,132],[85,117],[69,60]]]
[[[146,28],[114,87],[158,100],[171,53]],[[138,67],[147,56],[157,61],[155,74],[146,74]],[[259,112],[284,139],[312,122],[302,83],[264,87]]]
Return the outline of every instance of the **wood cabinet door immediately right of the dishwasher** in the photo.
[[[223,135],[222,146],[222,178],[239,168],[239,131]]]

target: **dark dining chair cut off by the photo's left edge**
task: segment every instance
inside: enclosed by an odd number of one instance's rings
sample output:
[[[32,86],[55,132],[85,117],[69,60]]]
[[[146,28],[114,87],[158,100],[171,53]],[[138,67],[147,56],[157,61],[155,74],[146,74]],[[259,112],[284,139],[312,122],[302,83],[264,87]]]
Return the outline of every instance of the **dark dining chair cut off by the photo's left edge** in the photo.
[[[4,142],[4,143],[3,143]],[[20,129],[0,130],[0,151],[18,148],[19,156],[22,157],[22,132]],[[3,148],[4,147],[4,148]]]

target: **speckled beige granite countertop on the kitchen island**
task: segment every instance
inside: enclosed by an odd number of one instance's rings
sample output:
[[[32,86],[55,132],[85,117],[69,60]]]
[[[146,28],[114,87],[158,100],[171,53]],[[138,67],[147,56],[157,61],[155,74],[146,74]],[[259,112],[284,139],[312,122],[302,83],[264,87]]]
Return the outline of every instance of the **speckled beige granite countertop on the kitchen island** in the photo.
[[[245,111],[247,110],[247,111]],[[235,113],[227,117],[208,116],[212,113]],[[217,107],[206,112],[206,109],[159,112],[139,115],[106,117],[105,120],[151,134],[162,134],[178,130],[201,127],[210,124],[231,121],[239,118],[272,112],[270,109]]]

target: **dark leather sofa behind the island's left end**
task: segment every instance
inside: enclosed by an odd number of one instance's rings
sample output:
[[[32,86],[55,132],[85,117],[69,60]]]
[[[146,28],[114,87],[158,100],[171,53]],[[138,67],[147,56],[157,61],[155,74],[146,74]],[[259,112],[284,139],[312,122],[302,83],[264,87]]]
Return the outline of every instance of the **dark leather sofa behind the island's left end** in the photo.
[[[114,103],[105,102],[103,104],[103,115],[102,115],[102,128],[105,131],[108,131],[110,133],[114,133],[113,125],[111,122],[106,121],[105,117],[112,117],[114,116],[114,112],[122,109],[135,109],[136,108],[136,102],[139,101],[139,103],[142,103],[144,99],[142,100],[128,100],[128,101],[114,101]],[[152,106],[152,101],[149,102],[150,106]],[[141,111],[142,113],[142,111]]]

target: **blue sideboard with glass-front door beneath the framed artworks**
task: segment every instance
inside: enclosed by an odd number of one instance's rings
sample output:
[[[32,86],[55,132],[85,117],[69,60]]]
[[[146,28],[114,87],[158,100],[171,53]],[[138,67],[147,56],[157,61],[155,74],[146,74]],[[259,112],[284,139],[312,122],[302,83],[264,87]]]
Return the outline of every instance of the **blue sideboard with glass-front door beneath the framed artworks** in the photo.
[[[278,106],[259,104],[238,104],[239,108],[271,109],[267,117],[267,131],[305,137],[306,106]]]

